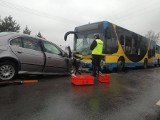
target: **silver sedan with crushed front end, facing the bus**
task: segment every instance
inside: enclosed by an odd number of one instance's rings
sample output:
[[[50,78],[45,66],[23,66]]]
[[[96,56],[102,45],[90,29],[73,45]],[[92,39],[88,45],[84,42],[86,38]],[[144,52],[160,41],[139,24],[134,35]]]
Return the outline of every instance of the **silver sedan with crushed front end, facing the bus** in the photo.
[[[17,74],[66,75],[71,61],[56,44],[30,35],[0,33],[0,79]]]

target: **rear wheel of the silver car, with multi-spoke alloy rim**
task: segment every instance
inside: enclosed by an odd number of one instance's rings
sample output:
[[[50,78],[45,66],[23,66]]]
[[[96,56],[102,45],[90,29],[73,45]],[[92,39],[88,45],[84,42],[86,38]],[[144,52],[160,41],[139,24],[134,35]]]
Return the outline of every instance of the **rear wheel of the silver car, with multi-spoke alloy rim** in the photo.
[[[11,62],[0,63],[0,80],[11,80],[17,75],[17,67]]]

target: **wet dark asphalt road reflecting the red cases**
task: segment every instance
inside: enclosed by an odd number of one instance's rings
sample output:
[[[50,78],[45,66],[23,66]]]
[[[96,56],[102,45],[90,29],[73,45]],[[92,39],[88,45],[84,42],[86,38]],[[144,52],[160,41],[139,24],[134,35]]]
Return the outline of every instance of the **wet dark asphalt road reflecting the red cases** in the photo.
[[[160,68],[111,73],[111,82],[74,86],[68,76],[24,77],[0,87],[0,120],[159,120]]]

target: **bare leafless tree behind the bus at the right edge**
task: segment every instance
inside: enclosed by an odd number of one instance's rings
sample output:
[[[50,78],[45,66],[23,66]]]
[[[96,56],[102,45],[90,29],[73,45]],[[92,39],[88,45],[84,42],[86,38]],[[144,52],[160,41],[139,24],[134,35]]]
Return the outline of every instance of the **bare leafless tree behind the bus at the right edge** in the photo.
[[[145,35],[148,39],[155,41],[156,43],[160,42],[160,32],[158,32],[157,34],[150,30],[147,32],[147,34]]]

